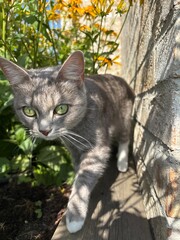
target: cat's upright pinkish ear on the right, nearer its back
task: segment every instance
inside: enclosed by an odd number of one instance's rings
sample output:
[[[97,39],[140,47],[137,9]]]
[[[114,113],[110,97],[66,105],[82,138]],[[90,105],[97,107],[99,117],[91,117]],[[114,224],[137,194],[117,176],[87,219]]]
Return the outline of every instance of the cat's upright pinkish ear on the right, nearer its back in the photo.
[[[57,80],[76,80],[79,85],[84,81],[84,55],[81,51],[72,53],[59,70]]]

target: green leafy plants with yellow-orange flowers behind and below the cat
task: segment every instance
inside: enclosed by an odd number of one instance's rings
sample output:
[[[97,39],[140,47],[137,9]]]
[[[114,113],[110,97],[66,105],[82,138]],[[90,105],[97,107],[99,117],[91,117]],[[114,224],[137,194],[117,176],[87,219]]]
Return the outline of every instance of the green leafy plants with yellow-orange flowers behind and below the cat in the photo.
[[[87,74],[106,71],[120,64],[114,53],[135,1],[0,0],[0,56],[37,68],[61,64],[79,49],[84,52]],[[122,15],[122,27],[115,31]],[[32,141],[14,116],[12,93],[2,73],[0,79],[0,182],[71,183],[67,150],[57,142]]]

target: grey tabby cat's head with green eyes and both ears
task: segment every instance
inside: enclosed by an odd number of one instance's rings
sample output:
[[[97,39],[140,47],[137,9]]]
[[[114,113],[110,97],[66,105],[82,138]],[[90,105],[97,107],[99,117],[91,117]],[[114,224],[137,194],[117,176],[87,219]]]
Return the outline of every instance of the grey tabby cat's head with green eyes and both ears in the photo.
[[[59,68],[24,70],[4,58],[0,68],[10,82],[20,121],[35,137],[59,138],[82,121],[87,99],[81,51]]]

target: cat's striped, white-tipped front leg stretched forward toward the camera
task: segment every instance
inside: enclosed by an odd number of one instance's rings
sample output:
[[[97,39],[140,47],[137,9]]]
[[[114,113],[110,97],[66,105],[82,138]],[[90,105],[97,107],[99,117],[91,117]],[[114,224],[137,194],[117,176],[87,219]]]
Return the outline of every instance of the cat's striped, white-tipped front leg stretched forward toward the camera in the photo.
[[[70,233],[79,231],[84,225],[90,194],[106,168],[109,154],[109,147],[96,147],[81,158],[66,212],[66,225]]]

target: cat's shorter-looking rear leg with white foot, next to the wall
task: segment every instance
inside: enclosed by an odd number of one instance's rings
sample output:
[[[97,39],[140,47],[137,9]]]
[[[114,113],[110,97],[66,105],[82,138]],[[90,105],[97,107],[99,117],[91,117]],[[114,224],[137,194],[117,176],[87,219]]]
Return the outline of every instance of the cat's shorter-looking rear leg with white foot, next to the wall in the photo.
[[[117,168],[120,172],[126,172],[128,169],[129,141],[120,142],[117,154]]]

